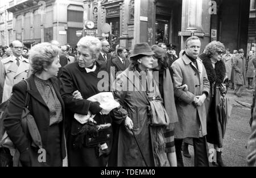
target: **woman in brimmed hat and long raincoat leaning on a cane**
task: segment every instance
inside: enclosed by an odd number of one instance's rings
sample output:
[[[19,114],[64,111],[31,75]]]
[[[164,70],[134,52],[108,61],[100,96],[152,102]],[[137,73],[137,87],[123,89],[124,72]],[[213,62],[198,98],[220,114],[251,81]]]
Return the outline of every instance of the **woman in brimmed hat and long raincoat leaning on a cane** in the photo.
[[[112,159],[114,163],[109,163],[111,166],[169,165],[162,130],[164,126],[154,126],[151,122],[152,111],[166,113],[152,72],[149,71],[154,61],[152,55],[154,52],[147,43],[135,44],[129,68],[119,74],[114,82],[113,94],[121,107],[113,112],[114,122],[119,128],[114,139],[117,142],[113,146],[117,149],[114,154],[116,158]]]

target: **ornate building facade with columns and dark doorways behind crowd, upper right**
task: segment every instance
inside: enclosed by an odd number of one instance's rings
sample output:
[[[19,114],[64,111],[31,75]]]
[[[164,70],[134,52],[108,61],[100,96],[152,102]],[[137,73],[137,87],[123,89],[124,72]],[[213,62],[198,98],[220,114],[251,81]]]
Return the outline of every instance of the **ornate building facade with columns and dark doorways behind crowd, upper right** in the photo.
[[[113,46],[120,44],[131,49],[135,43],[164,42],[177,45],[178,52],[192,33],[200,37],[202,51],[212,40],[220,40],[232,50],[246,50],[249,42],[255,42],[255,0],[87,0],[83,3],[84,20],[96,24],[98,36],[102,36],[105,23],[111,24],[109,40]]]

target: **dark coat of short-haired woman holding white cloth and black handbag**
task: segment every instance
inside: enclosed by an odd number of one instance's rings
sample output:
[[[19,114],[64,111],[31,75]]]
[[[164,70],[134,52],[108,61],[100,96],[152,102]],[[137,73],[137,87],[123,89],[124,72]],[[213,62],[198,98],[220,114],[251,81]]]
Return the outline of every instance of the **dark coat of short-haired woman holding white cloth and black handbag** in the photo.
[[[65,106],[67,108],[67,123],[65,129],[67,131],[67,146],[70,166],[106,166],[108,163],[109,153],[112,148],[112,141],[106,142],[108,149],[98,155],[97,147],[82,147],[77,148],[75,143],[76,136],[82,128],[82,124],[74,118],[74,114],[87,115],[89,111],[90,101],[87,98],[100,93],[98,89],[98,82],[102,81],[98,78],[98,73],[105,71],[105,66],[97,63],[96,71],[87,73],[85,68],[80,68],[78,63],[71,63],[63,68],[61,74],[61,96],[63,97]],[[108,76],[105,76],[108,80]],[[76,100],[72,93],[76,90],[82,95],[84,100]],[[108,90],[108,86],[106,86]],[[97,123],[104,123],[100,114],[96,114],[93,118]],[[106,123],[111,123],[109,115],[104,115]]]

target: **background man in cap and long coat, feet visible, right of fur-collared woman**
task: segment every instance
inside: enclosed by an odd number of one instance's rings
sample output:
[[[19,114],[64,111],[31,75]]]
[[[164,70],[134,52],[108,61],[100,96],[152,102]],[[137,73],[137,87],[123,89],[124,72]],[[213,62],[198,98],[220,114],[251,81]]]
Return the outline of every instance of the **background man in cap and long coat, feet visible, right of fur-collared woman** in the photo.
[[[234,83],[236,84],[234,94],[236,94],[237,97],[242,96],[241,88],[245,85],[246,59],[243,55],[243,49],[239,49],[238,55],[233,58]]]

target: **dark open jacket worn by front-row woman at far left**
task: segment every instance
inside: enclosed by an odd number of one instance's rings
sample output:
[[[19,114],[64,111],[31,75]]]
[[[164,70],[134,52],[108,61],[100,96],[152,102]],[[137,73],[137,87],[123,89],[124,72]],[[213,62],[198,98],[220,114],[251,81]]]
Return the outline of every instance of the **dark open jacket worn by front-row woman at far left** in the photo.
[[[53,89],[55,90],[56,96],[60,101],[62,107],[63,121],[59,123],[60,125],[60,146],[61,146],[61,158],[63,159],[63,165],[67,166],[67,150],[65,143],[65,133],[64,133],[64,120],[65,120],[65,108],[64,102],[60,96],[60,86],[57,78],[50,78]],[[38,127],[43,148],[47,151],[48,142],[48,131],[49,131],[49,108],[41,97],[38,89],[36,88],[34,75],[27,78],[27,82],[30,85],[30,90],[27,90],[27,85],[25,82],[19,82],[13,87],[13,95],[10,99],[9,105],[6,108],[6,117],[3,121],[3,125],[6,128],[7,134],[13,141],[14,145],[17,147],[19,152],[23,152],[27,147],[30,147],[30,159],[32,166],[47,166],[47,164],[39,163],[38,154],[39,148],[34,147],[32,144],[32,139],[30,135],[25,135],[20,124],[20,116],[22,115],[22,110],[25,105],[26,93],[30,95],[30,101],[28,102],[28,110],[30,114],[34,117],[36,126]],[[27,91],[27,92],[26,92]],[[49,158],[51,160],[51,158]]]

